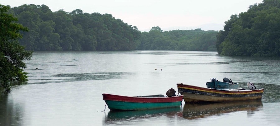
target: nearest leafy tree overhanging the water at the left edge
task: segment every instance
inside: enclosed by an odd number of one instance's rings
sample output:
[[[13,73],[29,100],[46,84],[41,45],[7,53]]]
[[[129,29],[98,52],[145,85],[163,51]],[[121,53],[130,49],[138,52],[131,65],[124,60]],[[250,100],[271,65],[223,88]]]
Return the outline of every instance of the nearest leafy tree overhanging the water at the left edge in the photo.
[[[10,7],[0,4],[0,84],[7,92],[11,91],[10,82],[26,81],[26,68],[23,60],[30,60],[32,52],[26,51],[18,42],[22,38],[19,31],[28,31],[21,24],[14,23],[17,18],[7,14]]]

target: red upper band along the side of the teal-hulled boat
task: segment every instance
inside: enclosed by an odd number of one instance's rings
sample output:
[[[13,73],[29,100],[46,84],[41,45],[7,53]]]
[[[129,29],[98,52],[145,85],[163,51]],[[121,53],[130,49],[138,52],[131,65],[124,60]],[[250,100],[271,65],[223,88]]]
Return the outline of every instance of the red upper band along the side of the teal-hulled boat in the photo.
[[[103,100],[114,100],[124,102],[139,102],[139,103],[162,103],[162,102],[178,102],[183,100],[183,96],[173,97],[130,97],[111,94],[102,94]]]

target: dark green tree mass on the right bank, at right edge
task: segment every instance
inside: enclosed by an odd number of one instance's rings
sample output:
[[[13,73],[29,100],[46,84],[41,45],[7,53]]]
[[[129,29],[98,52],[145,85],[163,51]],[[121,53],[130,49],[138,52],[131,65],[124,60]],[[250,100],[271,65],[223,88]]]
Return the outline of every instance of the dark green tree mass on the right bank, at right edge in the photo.
[[[280,56],[280,0],[263,0],[225,24],[217,35],[218,54]]]

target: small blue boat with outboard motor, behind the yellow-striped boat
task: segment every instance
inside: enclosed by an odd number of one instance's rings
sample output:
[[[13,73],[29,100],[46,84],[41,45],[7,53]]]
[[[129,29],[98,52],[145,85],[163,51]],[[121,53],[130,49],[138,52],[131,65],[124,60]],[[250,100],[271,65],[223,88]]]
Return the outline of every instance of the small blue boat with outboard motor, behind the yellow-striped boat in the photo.
[[[211,82],[206,82],[206,86],[208,88],[216,88],[216,89],[236,89],[238,88],[239,83],[233,83],[228,78],[223,78],[223,81],[220,82],[216,78],[210,79]]]

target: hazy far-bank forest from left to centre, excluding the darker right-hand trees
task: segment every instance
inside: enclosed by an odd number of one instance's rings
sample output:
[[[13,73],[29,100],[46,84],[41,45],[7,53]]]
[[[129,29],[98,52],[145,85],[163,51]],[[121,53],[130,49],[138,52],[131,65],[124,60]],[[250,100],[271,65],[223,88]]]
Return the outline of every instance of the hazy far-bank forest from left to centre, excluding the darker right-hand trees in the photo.
[[[110,14],[59,10],[46,5],[22,5],[9,10],[28,27],[20,44],[27,50],[201,50],[216,51],[218,31],[172,30],[158,26],[142,32]]]

